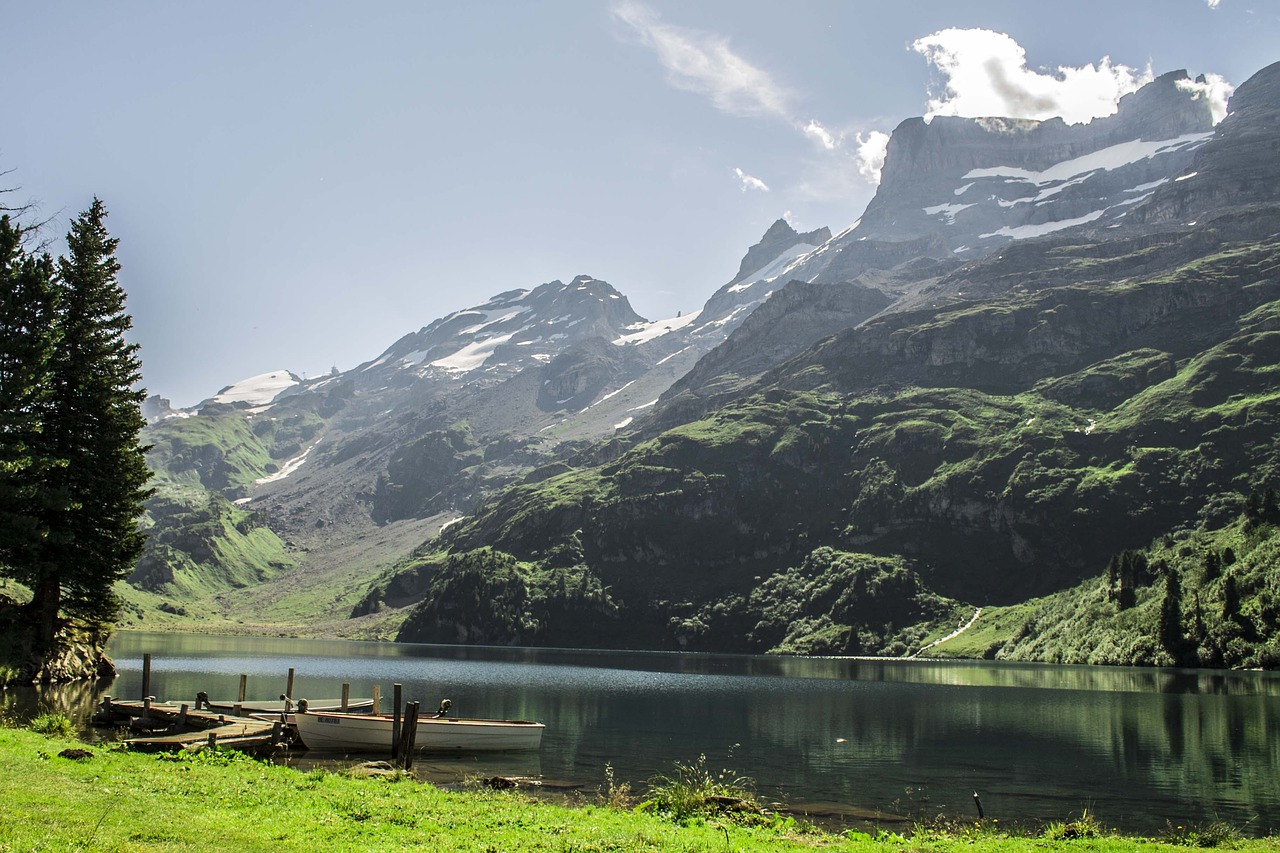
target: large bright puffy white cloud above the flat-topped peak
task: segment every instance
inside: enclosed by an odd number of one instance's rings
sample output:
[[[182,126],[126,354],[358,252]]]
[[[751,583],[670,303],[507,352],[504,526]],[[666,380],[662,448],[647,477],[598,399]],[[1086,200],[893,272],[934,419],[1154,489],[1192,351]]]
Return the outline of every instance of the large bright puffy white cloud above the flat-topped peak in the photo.
[[[941,29],[911,49],[945,77],[925,114],[1047,119],[1061,115],[1076,124],[1111,115],[1121,96],[1151,82],[1151,69],[1112,65],[1060,67],[1041,73],[1027,67],[1027,51],[1002,32]]]

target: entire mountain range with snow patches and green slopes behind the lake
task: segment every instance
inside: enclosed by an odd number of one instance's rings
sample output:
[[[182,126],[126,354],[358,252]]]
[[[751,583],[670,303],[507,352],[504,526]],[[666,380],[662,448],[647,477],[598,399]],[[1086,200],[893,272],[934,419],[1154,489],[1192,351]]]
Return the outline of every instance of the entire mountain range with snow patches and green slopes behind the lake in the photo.
[[[604,282],[552,282],[156,424],[169,551],[133,612],[895,653],[1231,524],[1280,475],[1277,78],[1216,127],[1181,72],[1082,126],[911,119],[858,223],[778,220],[698,313],[650,323]],[[1170,553],[1202,602],[1225,594]],[[1240,583],[1262,631],[1270,581]],[[1016,630],[991,653],[1032,648]],[[1115,660],[1174,654],[1144,648]]]

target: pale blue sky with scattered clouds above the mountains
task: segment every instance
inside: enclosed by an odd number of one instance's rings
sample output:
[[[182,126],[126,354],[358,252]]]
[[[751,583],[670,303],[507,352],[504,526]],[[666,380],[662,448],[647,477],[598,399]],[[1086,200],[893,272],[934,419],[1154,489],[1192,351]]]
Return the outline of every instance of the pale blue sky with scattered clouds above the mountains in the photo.
[[[490,296],[696,310],[852,224],[915,115],[1084,122],[1280,60],[1274,0],[0,0],[0,188],[120,240],[143,384],[316,377]]]

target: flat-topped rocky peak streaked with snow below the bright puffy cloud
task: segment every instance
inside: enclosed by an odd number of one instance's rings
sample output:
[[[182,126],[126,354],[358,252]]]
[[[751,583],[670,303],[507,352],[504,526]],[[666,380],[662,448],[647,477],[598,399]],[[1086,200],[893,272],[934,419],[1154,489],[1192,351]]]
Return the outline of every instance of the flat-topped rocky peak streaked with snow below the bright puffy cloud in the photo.
[[[1015,240],[1120,223],[1213,136],[1211,104],[1192,83],[1185,70],[1162,74],[1120,99],[1115,114],[1082,124],[906,119],[859,224],[790,274],[850,280],[910,256],[968,260]]]

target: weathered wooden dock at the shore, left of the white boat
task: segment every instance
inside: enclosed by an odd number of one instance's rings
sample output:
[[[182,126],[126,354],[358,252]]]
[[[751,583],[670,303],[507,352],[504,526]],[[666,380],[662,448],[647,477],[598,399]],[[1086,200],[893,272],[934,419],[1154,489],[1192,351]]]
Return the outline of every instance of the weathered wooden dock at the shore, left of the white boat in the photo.
[[[232,749],[275,748],[287,743],[287,733],[280,720],[237,717],[211,711],[195,711],[173,702],[102,701],[95,722],[127,724],[132,729],[146,730],[125,739],[134,749],[148,752],[175,751],[197,744]]]

